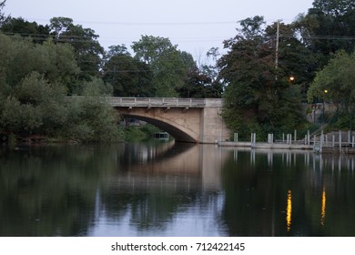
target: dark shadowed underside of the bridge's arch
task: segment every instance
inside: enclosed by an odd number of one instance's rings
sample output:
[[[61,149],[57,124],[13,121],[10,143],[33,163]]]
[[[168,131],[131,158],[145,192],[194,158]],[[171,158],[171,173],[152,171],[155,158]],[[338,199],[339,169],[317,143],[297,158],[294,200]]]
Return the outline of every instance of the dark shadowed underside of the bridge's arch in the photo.
[[[176,141],[181,141],[181,142],[190,142],[190,143],[198,143],[198,140],[196,138],[192,138],[188,133],[184,132],[180,128],[174,127],[173,125],[156,119],[152,117],[142,117],[139,115],[134,115],[134,114],[122,114],[124,117],[134,117],[139,120],[143,120],[149,124],[152,124],[156,126],[157,128],[169,133],[170,136],[175,138]]]

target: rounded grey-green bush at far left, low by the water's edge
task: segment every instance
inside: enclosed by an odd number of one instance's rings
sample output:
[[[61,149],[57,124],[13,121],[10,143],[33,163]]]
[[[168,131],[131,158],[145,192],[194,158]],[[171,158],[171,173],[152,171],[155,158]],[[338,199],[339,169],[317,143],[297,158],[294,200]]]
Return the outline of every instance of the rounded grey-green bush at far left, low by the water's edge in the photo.
[[[45,79],[34,72],[26,76],[7,97],[0,117],[1,126],[6,132],[20,135],[33,133],[48,134],[47,128],[60,126],[63,111],[59,110],[65,104],[60,104],[59,98],[64,98],[62,87],[50,86]]]

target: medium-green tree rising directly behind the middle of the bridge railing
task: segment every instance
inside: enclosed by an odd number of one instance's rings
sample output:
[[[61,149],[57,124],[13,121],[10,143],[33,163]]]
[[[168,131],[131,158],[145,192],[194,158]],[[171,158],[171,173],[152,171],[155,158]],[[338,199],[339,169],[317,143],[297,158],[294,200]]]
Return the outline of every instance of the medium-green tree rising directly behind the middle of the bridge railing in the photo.
[[[190,67],[187,54],[178,51],[168,38],[155,36],[142,36],[132,48],[135,57],[150,66],[153,72],[153,83],[157,87],[155,96],[176,97],[176,89],[183,85]]]

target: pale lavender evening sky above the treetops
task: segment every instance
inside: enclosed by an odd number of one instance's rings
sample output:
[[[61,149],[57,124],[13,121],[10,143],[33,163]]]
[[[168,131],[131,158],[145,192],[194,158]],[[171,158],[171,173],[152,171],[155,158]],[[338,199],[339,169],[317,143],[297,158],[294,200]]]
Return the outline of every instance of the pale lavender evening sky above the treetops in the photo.
[[[264,16],[268,25],[289,24],[307,13],[313,0],[7,0],[5,15],[49,24],[55,16],[95,30],[101,46],[125,44],[141,36],[169,38],[194,57],[236,36],[238,21]]]

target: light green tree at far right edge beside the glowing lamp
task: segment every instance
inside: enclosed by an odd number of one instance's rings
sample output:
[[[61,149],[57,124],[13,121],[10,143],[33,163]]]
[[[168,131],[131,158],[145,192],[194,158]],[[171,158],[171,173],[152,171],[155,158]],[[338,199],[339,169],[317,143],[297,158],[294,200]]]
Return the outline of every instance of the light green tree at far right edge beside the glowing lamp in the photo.
[[[337,52],[322,70],[317,72],[309,87],[309,103],[316,101],[331,102],[338,106],[334,122],[337,128],[352,129],[355,109],[355,52],[345,50]],[[343,123],[346,123],[345,125]]]

